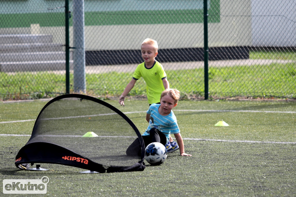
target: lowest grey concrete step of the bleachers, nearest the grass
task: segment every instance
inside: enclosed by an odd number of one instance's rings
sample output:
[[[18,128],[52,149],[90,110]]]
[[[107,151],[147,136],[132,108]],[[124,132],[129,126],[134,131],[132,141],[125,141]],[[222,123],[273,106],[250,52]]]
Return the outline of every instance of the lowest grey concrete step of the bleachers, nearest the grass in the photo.
[[[70,60],[70,70],[73,70],[73,60]],[[32,71],[61,71],[66,70],[65,60],[0,62],[0,72],[32,72]]]

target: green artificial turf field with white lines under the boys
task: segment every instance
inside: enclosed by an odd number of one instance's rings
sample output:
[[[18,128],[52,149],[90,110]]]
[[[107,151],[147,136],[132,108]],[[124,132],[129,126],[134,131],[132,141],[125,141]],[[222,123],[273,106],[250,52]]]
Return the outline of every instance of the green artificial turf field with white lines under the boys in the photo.
[[[47,176],[42,196],[295,196],[296,102],[181,100],[173,111],[185,152],[193,156],[181,157],[177,150],[164,164],[146,163],[141,172],[82,174],[84,169],[57,164],[41,164],[53,171],[17,169],[15,156],[47,102],[0,103],[1,183]],[[146,100],[126,99],[125,107],[106,102],[141,133],[147,128]],[[214,126],[222,119],[229,126]]]

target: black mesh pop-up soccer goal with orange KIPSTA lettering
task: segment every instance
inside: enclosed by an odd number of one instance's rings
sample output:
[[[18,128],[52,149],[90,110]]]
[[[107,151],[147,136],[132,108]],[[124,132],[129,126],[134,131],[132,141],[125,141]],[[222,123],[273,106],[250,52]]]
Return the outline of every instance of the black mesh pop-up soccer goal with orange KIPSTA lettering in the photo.
[[[141,155],[128,152],[136,139]],[[142,171],[144,154],[141,134],[124,113],[94,97],[68,94],[41,110],[15,165],[63,164],[100,173]]]

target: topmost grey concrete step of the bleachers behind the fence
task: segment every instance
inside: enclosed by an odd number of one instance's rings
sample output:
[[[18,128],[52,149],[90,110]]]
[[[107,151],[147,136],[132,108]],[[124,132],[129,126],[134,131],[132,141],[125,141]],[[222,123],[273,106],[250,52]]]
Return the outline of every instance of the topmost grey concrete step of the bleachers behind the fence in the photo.
[[[50,43],[50,34],[5,34],[0,35],[0,44]]]

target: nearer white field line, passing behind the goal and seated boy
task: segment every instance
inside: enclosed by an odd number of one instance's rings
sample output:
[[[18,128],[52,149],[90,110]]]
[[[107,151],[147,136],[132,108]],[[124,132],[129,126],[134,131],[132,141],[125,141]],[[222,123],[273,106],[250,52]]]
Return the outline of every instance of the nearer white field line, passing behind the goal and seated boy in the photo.
[[[0,136],[16,136],[16,137],[30,137],[28,134],[0,134]],[[80,135],[39,135],[43,137],[82,137]],[[134,138],[132,136],[97,136],[97,137],[124,137],[124,138]],[[183,140],[192,141],[215,141],[215,142],[244,142],[244,143],[266,143],[266,144],[296,144],[296,142],[268,142],[268,141],[251,141],[251,140],[214,140],[214,139],[201,139],[201,138],[183,138]]]

